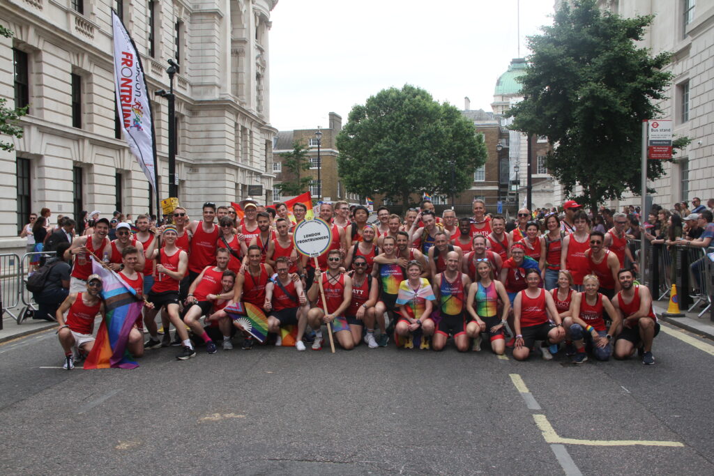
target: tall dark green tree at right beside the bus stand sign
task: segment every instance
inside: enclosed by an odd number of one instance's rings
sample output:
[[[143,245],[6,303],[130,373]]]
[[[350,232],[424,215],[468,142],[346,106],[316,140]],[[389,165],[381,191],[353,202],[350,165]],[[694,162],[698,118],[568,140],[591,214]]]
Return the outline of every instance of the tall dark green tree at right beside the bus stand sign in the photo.
[[[670,54],[650,56],[637,48],[652,16],[625,19],[600,11],[595,0],[574,0],[555,14],[553,26],[528,39],[533,54],[521,76],[523,101],[511,108],[513,128],[547,136],[551,175],[581,203],[640,194],[641,124],[658,118],[655,102],[672,79],[662,68]],[[688,139],[680,138],[675,146]],[[663,174],[662,161],[648,161],[650,180]]]

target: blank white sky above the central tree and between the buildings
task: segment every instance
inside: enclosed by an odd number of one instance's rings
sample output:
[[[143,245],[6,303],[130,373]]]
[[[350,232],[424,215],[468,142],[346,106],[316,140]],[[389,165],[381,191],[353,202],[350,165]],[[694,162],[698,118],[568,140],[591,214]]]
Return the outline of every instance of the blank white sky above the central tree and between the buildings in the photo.
[[[437,101],[491,111],[518,57],[518,0],[279,0],[269,36],[270,122],[280,131],[343,123],[355,104],[405,83]],[[521,0],[526,35],[552,24],[554,0]]]

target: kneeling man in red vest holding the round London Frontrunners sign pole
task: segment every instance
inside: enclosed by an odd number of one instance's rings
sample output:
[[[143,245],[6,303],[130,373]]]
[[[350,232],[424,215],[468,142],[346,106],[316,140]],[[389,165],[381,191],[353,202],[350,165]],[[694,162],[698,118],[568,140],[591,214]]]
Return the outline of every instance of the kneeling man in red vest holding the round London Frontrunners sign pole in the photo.
[[[315,330],[313,350],[322,348],[322,325],[324,323],[332,323],[332,332],[343,349],[352,350],[355,346],[345,315],[352,300],[352,278],[340,273],[341,261],[340,250],[330,250],[326,273],[315,270],[314,283],[308,289],[308,299],[317,302],[316,307],[308,313],[308,324]],[[321,281],[325,300],[322,298],[318,284]]]

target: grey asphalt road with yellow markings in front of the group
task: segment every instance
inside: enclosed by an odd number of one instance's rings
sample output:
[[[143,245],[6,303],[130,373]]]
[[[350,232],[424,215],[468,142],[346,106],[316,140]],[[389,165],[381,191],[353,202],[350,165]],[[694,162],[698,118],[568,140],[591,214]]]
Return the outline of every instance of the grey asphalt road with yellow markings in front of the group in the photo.
[[[693,342],[660,333],[654,366],[236,345],[68,372],[40,333],[0,345],[0,473],[714,474],[714,346]]]

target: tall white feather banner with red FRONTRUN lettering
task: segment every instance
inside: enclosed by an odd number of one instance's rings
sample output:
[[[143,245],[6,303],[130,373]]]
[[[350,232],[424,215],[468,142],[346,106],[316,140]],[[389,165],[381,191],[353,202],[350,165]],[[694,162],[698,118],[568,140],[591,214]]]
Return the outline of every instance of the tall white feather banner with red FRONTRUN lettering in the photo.
[[[154,126],[144,69],[134,41],[114,10],[111,11],[111,23],[114,29],[114,89],[121,130],[131,153],[156,191]]]

